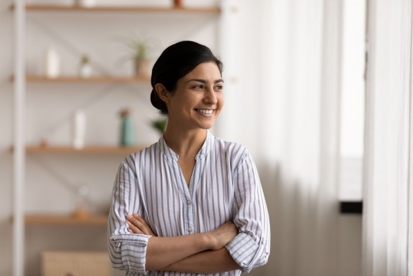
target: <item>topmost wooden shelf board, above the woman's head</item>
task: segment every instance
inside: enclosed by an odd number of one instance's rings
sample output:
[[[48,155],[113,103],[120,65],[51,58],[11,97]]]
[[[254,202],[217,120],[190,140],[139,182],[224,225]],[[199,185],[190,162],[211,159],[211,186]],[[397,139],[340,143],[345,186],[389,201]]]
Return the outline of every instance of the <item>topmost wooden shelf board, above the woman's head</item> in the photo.
[[[12,8],[14,8],[12,6]],[[219,7],[162,7],[162,6],[95,6],[93,8],[83,8],[81,6],[65,5],[41,5],[28,4],[26,10],[38,11],[68,11],[68,12],[201,12],[201,13],[219,13]]]

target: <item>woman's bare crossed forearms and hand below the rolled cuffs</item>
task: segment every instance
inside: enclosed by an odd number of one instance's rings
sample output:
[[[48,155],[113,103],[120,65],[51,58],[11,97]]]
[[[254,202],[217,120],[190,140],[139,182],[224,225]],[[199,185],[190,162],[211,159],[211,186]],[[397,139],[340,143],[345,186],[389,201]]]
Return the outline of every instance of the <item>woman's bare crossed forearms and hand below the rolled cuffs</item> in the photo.
[[[131,233],[153,234],[146,221],[137,214],[126,218]],[[206,233],[151,237],[146,250],[146,269],[186,273],[215,273],[239,269],[228,250],[223,248],[236,234],[238,231],[235,225],[227,222]]]

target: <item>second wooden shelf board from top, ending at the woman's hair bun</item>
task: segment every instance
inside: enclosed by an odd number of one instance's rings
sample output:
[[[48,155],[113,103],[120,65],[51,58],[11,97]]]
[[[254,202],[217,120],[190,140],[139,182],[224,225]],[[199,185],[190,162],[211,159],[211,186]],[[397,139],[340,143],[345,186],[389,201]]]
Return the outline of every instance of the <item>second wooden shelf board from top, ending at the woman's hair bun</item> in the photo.
[[[12,77],[12,80],[14,78]],[[51,83],[61,83],[61,82],[80,82],[80,83],[93,83],[93,82],[101,82],[101,83],[111,83],[111,82],[128,82],[128,83],[151,83],[151,79],[149,77],[128,77],[128,76],[91,76],[91,77],[78,77],[78,76],[61,76],[61,77],[45,77],[42,75],[27,75],[26,76],[27,82],[51,82]]]

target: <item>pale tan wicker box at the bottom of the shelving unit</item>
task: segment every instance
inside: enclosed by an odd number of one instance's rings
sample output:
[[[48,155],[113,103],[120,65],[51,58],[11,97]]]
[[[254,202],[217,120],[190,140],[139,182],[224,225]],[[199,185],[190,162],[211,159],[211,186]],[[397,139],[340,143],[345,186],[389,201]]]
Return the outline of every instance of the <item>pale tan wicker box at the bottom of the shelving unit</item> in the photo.
[[[43,276],[110,276],[106,251],[44,251],[41,254]]]

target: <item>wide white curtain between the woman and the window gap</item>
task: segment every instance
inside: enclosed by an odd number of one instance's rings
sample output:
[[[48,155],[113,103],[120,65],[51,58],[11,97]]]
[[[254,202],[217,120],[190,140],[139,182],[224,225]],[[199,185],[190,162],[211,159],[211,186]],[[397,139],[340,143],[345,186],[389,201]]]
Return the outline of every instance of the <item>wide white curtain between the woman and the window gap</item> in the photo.
[[[230,75],[219,130],[253,151],[269,207],[269,263],[252,274],[340,275],[341,1],[241,2],[232,16],[248,22],[224,37]],[[237,53],[238,44],[247,50]]]

